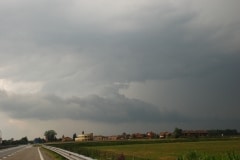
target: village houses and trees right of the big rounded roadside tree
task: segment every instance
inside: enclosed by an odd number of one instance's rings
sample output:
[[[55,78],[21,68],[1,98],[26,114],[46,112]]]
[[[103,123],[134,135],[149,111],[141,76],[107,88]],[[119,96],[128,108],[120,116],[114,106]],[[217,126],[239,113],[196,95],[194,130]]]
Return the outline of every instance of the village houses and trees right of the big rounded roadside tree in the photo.
[[[81,134],[74,134],[73,137],[65,137],[62,136],[59,139],[62,142],[76,141],[76,142],[84,142],[84,141],[117,141],[117,140],[129,140],[129,139],[166,139],[166,138],[200,138],[200,137],[225,137],[225,136],[237,136],[240,135],[236,129],[226,129],[226,130],[182,130],[176,128],[174,132],[160,132],[155,133],[153,131],[149,131],[147,133],[133,133],[127,134],[122,133],[121,135],[112,135],[112,136],[102,136],[102,135],[94,135],[93,133],[84,133],[82,131]]]

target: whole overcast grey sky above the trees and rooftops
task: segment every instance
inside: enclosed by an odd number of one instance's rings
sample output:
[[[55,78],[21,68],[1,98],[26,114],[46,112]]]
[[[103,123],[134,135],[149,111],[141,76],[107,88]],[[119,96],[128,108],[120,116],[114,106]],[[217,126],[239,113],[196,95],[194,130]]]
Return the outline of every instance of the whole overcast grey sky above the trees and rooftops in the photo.
[[[240,130],[239,6],[0,1],[3,139]]]

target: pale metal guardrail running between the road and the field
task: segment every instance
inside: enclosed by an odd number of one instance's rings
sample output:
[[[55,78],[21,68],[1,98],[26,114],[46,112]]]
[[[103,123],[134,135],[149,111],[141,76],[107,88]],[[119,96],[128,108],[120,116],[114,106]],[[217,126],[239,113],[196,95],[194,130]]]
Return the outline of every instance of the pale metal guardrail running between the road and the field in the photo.
[[[46,145],[42,145],[44,148],[51,150],[65,158],[67,158],[68,160],[94,160],[90,157],[86,157],[74,152],[70,152],[61,148],[57,148],[57,147],[51,147],[51,146],[46,146]]]

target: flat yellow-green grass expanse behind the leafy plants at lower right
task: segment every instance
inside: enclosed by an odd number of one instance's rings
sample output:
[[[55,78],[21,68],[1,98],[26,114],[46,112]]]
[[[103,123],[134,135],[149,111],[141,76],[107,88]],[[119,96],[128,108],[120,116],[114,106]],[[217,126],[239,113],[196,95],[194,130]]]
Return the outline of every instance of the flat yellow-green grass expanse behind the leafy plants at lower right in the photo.
[[[132,157],[142,157],[151,160],[176,160],[178,156],[186,154],[190,151],[196,151],[208,155],[224,155],[233,152],[235,154],[240,154],[240,139],[113,146],[108,145],[89,148],[129,155]]]

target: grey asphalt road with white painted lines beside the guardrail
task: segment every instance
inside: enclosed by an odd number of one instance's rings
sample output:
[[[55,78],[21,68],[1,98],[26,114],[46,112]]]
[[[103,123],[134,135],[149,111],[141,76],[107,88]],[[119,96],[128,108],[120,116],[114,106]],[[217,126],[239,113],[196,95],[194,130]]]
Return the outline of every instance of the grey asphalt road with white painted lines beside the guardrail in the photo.
[[[18,146],[0,150],[0,160],[52,160],[39,147]]]

